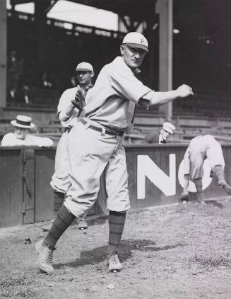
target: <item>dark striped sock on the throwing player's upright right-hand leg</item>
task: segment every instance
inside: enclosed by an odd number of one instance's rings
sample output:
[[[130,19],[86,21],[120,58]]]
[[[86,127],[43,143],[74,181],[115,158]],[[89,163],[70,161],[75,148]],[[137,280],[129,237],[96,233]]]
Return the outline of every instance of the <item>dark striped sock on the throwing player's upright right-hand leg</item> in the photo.
[[[109,211],[109,242],[107,247],[107,254],[117,251],[122,233],[124,230],[124,223],[126,219],[126,212],[119,213],[112,210]]]

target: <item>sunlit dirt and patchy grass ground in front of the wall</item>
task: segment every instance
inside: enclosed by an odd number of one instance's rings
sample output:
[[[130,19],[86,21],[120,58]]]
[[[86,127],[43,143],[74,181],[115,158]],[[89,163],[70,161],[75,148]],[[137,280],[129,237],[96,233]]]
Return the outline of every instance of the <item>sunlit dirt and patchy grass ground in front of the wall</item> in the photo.
[[[0,298],[231,298],[231,198],[129,211],[119,273],[105,263],[107,218],[69,227],[54,274],[40,273],[34,245],[44,224],[0,230]]]

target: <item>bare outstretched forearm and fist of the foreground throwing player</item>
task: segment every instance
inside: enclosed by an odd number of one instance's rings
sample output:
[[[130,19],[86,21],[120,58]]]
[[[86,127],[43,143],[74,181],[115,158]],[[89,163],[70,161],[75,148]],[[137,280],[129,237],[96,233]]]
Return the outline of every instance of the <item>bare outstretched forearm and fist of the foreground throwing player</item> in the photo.
[[[162,105],[170,101],[174,101],[176,98],[186,98],[187,96],[194,95],[191,87],[186,84],[182,84],[177,89],[172,91],[151,91],[142,98],[138,103],[142,106],[154,106]]]

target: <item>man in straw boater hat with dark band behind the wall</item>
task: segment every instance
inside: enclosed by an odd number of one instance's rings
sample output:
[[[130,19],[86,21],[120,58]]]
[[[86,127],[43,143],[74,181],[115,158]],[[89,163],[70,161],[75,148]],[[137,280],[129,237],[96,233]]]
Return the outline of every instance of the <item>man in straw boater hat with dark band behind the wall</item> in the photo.
[[[52,147],[53,141],[51,139],[28,134],[30,129],[35,128],[29,116],[17,115],[16,120],[11,120],[11,124],[15,127],[15,130],[4,135],[1,141],[2,147],[16,147],[21,145]]]

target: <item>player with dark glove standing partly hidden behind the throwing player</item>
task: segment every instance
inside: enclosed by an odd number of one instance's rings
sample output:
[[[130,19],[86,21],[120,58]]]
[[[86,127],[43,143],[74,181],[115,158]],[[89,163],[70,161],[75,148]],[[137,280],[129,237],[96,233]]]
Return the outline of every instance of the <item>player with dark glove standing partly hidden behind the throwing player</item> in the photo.
[[[54,209],[59,210],[61,203],[64,201],[66,191],[70,186],[68,168],[69,161],[66,152],[66,140],[73,123],[78,118],[79,109],[76,106],[76,92],[81,92],[85,99],[88,91],[93,87],[92,79],[94,77],[93,66],[88,62],[81,62],[76,67],[76,77],[78,79],[78,86],[71,89],[66,89],[59,99],[57,113],[61,125],[64,127],[64,133],[61,135],[57,145],[57,152],[55,155],[54,175],[52,176],[51,186],[54,188]],[[88,228],[88,223],[85,217],[80,218],[78,222],[79,229]]]

